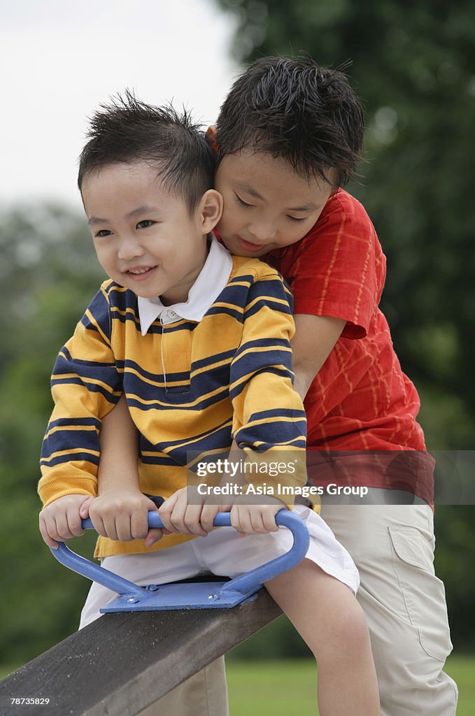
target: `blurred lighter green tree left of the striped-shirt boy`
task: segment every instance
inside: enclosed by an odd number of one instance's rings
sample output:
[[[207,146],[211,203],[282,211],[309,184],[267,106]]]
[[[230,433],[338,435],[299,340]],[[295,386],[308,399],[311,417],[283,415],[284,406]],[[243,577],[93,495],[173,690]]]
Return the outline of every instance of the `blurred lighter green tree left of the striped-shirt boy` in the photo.
[[[39,535],[38,460],[54,359],[104,276],[85,222],[57,206],[5,213],[0,251],[0,661],[14,664],[74,631],[88,589]]]

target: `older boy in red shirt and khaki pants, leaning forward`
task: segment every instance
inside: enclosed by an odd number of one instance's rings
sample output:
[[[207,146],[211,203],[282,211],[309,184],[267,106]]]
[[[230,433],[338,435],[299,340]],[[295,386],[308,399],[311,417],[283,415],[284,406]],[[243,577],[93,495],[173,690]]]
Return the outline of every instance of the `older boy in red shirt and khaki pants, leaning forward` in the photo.
[[[294,388],[307,415],[310,478],[370,486],[364,505],[324,496],[321,514],[360,571],[383,716],[448,716],[457,691],[442,671],[451,642],[433,571],[433,475],[418,395],[378,309],[385,257],[375,229],[342,190],[363,128],[340,72],[311,59],[251,64],[210,132],[224,196],[217,229],[231,252],[276,266],[294,294]],[[123,442],[122,415],[107,417],[106,443],[112,432]],[[122,525],[130,533],[130,516]]]

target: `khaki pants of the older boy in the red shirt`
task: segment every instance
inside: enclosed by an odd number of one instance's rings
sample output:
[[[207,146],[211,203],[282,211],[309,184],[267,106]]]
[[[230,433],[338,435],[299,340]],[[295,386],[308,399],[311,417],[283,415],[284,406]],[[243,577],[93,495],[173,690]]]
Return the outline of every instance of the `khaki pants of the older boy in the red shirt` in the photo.
[[[454,716],[456,684],[442,670],[452,645],[433,571],[431,508],[324,504],[321,514],[360,570],[357,596],[370,628],[381,716]],[[223,669],[218,659],[140,716],[226,716]]]

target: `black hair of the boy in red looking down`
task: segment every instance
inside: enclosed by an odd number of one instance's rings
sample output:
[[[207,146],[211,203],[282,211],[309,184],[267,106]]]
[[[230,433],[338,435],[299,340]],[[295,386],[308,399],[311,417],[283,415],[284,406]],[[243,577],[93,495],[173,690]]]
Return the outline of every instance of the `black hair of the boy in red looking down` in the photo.
[[[218,157],[244,147],[281,157],[307,179],[336,186],[355,174],[363,110],[347,77],[311,58],[264,57],[234,82],[216,122]]]

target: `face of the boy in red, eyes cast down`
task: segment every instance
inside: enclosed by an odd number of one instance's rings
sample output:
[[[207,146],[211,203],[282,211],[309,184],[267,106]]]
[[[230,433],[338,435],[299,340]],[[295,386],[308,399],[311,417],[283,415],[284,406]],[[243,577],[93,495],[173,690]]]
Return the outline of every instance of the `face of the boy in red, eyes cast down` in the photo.
[[[332,170],[328,178],[333,179]],[[226,248],[239,256],[264,256],[310,231],[333,186],[295,173],[282,158],[242,150],[221,160],[215,180],[224,211],[216,226]]]

